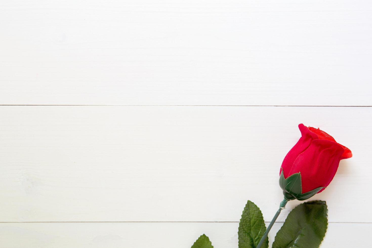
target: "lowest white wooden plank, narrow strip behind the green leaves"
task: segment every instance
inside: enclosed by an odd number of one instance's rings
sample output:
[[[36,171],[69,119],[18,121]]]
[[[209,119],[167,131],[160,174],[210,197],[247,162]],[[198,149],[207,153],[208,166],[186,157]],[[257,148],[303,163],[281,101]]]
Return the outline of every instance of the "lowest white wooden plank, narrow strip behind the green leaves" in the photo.
[[[269,235],[283,223],[275,223]],[[266,223],[267,225],[267,223]],[[365,247],[371,223],[329,223],[320,248]],[[214,247],[236,248],[238,223],[0,223],[0,241],[7,248],[189,248],[206,233]],[[341,237],[341,238],[340,238]]]

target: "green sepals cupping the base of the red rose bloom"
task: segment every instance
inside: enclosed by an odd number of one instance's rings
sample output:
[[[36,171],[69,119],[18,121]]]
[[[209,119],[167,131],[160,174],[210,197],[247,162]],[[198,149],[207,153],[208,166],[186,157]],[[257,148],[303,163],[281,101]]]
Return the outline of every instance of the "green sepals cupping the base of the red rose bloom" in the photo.
[[[307,200],[314,194],[318,193],[321,189],[325,187],[319,187],[302,194],[302,181],[301,173],[295,173],[287,178],[284,178],[283,168],[279,177],[279,185],[283,190],[283,195],[286,200]]]

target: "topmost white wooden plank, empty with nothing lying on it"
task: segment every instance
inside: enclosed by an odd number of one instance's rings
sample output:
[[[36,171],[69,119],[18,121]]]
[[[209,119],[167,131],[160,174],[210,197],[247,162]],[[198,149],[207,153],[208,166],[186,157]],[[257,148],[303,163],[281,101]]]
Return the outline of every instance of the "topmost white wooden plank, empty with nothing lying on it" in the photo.
[[[371,106],[372,2],[2,1],[0,104]]]

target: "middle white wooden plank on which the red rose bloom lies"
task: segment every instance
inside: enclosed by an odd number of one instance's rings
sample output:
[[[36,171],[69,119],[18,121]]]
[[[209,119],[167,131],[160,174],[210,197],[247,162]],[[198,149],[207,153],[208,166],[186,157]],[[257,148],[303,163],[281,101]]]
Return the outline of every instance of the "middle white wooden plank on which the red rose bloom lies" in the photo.
[[[371,107],[1,106],[0,221],[238,221],[247,199],[270,220],[282,200],[280,164],[304,122],[354,151],[313,199],[327,200],[330,222],[372,222],[371,114]]]

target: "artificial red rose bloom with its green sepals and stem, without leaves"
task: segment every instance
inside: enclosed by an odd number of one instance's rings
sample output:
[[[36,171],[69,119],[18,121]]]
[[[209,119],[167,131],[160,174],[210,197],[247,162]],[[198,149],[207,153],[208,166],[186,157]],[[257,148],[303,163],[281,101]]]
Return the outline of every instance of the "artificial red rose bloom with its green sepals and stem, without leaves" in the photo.
[[[352,157],[350,149],[337,143],[328,133],[307,128],[304,124],[298,128],[302,136],[285,156],[280,168],[279,185],[284,199],[257,248],[267,240],[267,233],[289,200],[306,200],[323,191],[336,174],[340,160]]]

